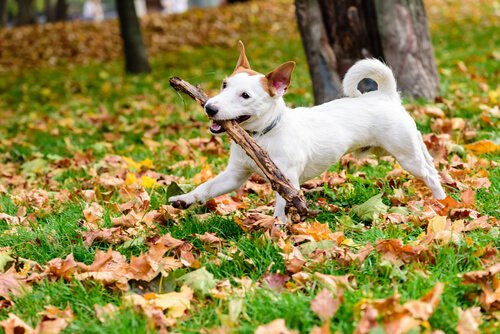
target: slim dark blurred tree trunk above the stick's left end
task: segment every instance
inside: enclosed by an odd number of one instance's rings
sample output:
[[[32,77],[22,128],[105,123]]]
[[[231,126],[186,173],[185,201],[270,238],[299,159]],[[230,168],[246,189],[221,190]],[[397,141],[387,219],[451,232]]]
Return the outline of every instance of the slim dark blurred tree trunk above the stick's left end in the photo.
[[[151,72],[134,0],[116,0],[116,9],[123,40],[125,70],[132,74]]]

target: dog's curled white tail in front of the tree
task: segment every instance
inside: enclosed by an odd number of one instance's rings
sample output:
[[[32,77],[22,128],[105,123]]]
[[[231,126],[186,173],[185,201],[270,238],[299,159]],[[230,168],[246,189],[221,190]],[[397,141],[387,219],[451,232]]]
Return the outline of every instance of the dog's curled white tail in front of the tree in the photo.
[[[342,82],[344,94],[348,97],[361,96],[358,84],[365,78],[375,81],[379,92],[391,98],[399,99],[394,74],[392,74],[391,69],[387,65],[377,59],[359,60],[347,71]]]

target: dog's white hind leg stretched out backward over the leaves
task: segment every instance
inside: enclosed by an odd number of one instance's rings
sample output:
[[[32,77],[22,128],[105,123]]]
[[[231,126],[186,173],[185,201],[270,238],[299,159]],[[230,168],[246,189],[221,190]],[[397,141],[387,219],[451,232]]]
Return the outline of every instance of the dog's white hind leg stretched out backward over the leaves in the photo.
[[[439,174],[434,168],[420,133],[411,140],[397,140],[384,148],[391,153],[405,170],[422,180],[436,199],[444,199],[446,194],[439,181]]]

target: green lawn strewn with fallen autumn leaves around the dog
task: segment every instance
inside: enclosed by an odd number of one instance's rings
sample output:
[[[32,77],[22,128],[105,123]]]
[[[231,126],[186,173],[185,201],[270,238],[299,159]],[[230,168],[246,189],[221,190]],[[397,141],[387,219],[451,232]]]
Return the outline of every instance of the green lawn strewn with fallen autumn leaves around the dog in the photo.
[[[320,213],[289,232],[273,227],[258,178],[184,212],[167,205],[222,171],[229,147],[168,79],[215,94],[241,38],[259,71],[295,60],[286,101],[311,105],[295,23],[159,50],[149,75],[124,76],[118,60],[4,67],[4,330],[498,333],[499,8],[426,3],[442,97],[405,106],[450,198],[391,158],[346,157],[307,184]]]

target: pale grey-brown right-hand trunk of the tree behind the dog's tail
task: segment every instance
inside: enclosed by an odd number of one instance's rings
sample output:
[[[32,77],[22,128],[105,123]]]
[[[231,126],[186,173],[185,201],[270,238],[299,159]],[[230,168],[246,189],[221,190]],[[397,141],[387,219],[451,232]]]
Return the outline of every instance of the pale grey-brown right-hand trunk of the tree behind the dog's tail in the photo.
[[[439,76],[422,0],[376,0],[384,59],[399,89],[412,97],[434,99]]]

